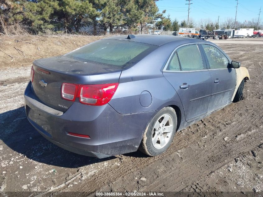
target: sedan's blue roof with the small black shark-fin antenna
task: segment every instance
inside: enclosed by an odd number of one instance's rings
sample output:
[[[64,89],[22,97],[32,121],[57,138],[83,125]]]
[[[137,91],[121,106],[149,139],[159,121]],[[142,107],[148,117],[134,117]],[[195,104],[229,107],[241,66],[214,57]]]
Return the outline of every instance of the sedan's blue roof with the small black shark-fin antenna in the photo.
[[[133,42],[140,42],[150,45],[156,45],[161,46],[166,43],[171,42],[178,42],[180,45],[187,44],[187,43],[193,43],[193,42],[206,42],[204,40],[195,39],[195,38],[187,38],[182,36],[174,36],[174,35],[156,35],[156,34],[144,34],[144,35],[129,35],[130,39],[128,38],[128,35],[120,35],[120,36],[113,36],[109,38],[105,38],[106,40],[127,40],[127,41],[133,41]]]

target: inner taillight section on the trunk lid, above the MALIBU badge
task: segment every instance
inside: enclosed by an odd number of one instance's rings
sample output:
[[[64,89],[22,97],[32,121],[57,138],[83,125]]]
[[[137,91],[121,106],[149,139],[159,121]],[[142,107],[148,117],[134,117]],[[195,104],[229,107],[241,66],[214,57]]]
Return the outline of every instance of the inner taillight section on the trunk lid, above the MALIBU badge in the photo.
[[[78,91],[78,84],[62,83],[61,96],[68,101],[75,101]]]

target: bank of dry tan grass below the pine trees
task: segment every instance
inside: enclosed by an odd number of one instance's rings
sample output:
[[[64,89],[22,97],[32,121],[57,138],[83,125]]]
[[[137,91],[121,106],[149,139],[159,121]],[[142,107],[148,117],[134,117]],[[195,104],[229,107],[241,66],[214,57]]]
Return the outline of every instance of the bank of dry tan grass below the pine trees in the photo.
[[[0,36],[0,49],[6,53],[0,51],[0,70],[30,66],[35,59],[59,56],[88,43],[110,36],[112,35],[85,36],[63,34]]]

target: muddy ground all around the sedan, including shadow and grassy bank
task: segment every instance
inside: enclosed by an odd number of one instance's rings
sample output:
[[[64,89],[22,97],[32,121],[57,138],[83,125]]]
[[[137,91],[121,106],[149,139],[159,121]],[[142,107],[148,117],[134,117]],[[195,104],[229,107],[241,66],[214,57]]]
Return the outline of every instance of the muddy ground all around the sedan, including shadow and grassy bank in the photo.
[[[45,192],[79,173],[55,191],[263,192],[263,39],[214,41],[248,69],[244,99],[178,131],[162,155],[138,151],[97,159],[40,136],[23,104],[32,61],[100,38],[0,37],[0,49],[13,57],[0,51],[0,192]]]

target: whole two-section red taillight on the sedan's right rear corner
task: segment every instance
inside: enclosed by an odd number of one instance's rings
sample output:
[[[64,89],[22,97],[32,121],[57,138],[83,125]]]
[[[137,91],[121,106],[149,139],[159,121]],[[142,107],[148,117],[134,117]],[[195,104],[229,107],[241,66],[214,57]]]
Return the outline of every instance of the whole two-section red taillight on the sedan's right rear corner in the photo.
[[[63,99],[79,102],[86,105],[102,106],[107,104],[114,95],[119,83],[97,84],[97,85],[78,85],[63,83],[61,95]]]

